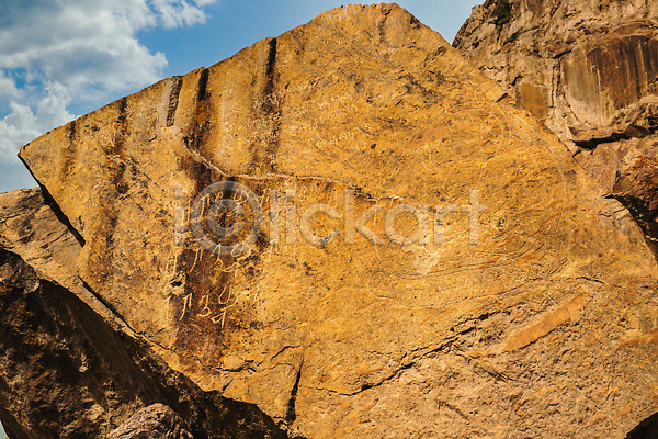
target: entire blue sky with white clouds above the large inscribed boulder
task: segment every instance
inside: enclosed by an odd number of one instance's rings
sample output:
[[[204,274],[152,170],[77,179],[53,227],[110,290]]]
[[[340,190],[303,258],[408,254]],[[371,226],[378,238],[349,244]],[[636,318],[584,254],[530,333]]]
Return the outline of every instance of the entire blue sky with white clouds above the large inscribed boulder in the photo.
[[[449,42],[480,3],[398,1]],[[38,135],[159,79],[211,66],[342,4],[0,0],[0,192],[36,187],[15,156]]]

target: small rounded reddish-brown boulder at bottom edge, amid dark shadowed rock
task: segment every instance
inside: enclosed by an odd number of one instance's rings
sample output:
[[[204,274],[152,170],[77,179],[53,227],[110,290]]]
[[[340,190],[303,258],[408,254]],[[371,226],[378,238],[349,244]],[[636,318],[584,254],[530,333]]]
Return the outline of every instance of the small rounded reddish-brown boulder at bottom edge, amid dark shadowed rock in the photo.
[[[107,439],[193,439],[185,429],[185,423],[171,408],[154,404],[140,409]]]

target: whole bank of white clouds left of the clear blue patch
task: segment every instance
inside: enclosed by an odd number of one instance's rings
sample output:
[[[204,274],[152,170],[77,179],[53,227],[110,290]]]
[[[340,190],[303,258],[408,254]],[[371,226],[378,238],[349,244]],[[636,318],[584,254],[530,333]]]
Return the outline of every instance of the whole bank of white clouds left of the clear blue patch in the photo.
[[[202,8],[214,1],[0,0],[0,104],[11,100],[0,105],[10,110],[0,114],[0,162],[71,120],[71,102],[160,79],[167,58],[151,54],[137,33],[203,23]]]

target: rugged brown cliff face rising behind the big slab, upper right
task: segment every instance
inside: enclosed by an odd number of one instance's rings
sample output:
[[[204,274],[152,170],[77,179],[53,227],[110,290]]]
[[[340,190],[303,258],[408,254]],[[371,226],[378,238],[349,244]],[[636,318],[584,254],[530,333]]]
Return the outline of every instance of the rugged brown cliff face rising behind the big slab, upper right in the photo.
[[[646,192],[658,187],[629,193],[625,181],[658,158],[657,19],[654,1],[488,0],[454,42],[619,196],[655,249]]]

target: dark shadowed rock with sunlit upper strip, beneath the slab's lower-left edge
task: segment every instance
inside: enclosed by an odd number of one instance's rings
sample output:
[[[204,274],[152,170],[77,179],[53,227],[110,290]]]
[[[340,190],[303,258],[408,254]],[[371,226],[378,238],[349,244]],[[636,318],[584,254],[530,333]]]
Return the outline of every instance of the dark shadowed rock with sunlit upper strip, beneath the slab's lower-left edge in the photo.
[[[75,275],[80,245],[39,190],[0,194],[0,419],[12,439],[105,438],[166,403],[195,437],[281,438],[257,407],[170,370]]]

